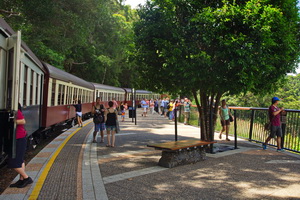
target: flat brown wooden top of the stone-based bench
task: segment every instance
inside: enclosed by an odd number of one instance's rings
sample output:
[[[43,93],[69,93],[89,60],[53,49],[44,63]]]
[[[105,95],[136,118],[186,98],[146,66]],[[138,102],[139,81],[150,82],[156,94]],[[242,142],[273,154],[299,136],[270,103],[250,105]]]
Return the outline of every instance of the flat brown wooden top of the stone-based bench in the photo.
[[[202,140],[180,140],[165,143],[148,144],[148,147],[154,147],[156,149],[178,150],[196,146],[203,146],[216,143],[215,141],[202,141]]]

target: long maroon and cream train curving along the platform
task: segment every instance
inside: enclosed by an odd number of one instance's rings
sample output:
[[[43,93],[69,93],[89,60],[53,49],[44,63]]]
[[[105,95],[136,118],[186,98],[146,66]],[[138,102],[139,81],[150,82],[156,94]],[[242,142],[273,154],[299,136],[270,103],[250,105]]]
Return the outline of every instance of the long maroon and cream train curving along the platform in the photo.
[[[0,163],[7,152],[15,151],[15,117],[18,104],[26,119],[27,137],[32,141],[44,130],[75,118],[74,99],[82,102],[83,117],[90,117],[96,97],[107,106],[116,100],[132,106],[131,88],[114,87],[83,80],[41,61],[0,18]],[[146,90],[136,90],[138,105],[142,98],[159,98]]]

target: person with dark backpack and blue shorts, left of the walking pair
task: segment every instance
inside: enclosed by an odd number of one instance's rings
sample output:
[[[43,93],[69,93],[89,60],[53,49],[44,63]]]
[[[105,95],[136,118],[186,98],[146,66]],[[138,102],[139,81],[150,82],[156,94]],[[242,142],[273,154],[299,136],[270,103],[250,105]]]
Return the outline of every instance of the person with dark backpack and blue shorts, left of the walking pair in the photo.
[[[96,98],[96,104],[93,106],[92,114],[94,115],[94,133],[93,133],[93,143],[96,143],[96,136],[97,133],[100,131],[101,141],[100,143],[104,142],[104,130],[105,130],[105,109],[103,104],[100,104],[100,97]]]

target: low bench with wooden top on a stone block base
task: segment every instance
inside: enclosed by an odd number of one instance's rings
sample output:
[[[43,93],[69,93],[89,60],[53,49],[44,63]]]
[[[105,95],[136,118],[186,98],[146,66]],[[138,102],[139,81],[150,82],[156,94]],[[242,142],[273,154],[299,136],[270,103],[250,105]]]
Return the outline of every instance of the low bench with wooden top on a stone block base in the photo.
[[[178,165],[195,163],[206,160],[206,152],[204,146],[216,143],[215,141],[202,140],[180,140],[174,142],[164,142],[156,144],[148,144],[148,147],[154,147],[162,150],[162,156],[158,165],[172,168]]]

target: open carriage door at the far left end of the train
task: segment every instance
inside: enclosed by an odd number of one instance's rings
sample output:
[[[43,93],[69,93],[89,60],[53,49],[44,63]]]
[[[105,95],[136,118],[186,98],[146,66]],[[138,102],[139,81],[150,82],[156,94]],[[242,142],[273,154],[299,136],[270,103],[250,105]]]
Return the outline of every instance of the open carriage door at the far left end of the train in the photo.
[[[7,126],[5,130],[1,130],[4,142],[4,151],[6,153],[12,153],[15,157],[15,117],[18,111],[19,103],[19,79],[20,79],[20,58],[21,58],[21,32],[18,31],[7,40],[7,70],[6,70],[6,92],[5,95],[5,110],[8,113],[5,120]],[[2,119],[1,119],[2,121]]]

